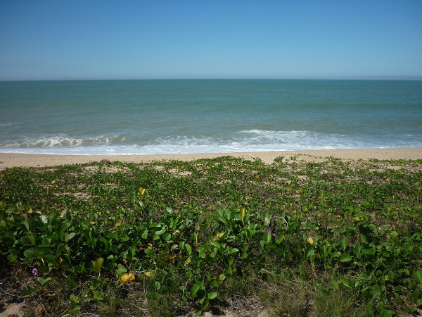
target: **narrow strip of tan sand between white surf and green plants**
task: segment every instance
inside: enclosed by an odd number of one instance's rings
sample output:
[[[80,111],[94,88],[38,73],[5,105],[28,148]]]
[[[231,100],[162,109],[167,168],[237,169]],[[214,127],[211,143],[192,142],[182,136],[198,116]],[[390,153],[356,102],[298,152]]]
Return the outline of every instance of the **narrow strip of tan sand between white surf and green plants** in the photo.
[[[131,163],[151,162],[161,160],[195,161],[212,159],[220,156],[234,156],[243,159],[260,158],[264,163],[271,164],[279,156],[290,158],[297,156],[299,160],[323,161],[333,156],[338,159],[422,159],[422,148],[392,148],[392,149],[335,149],[314,151],[265,151],[265,152],[234,152],[234,153],[200,153],[200,154],[155,154],[155,155],[53,155],[53,154],[14,154],[0,153],[0,170],[15,166],[42,167],[63,164],[90,163],[93,161],[122,161]]]

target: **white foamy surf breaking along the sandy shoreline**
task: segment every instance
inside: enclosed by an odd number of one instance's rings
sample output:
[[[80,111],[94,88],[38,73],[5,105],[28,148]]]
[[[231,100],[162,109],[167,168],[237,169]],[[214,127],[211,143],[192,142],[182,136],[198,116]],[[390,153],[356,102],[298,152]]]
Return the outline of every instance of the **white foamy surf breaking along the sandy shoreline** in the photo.
[[[385,147],[385,144],[361,142],[346,135],[324,134],[312,131],[243,130],[231,136],[179,135],[157,137],[149,141],[136,139],[134,135],[128,138],[119,135],[83,138],[59,135],[0,144],[0,151],[39,154],[117,155],[353,149],[364,147]]]

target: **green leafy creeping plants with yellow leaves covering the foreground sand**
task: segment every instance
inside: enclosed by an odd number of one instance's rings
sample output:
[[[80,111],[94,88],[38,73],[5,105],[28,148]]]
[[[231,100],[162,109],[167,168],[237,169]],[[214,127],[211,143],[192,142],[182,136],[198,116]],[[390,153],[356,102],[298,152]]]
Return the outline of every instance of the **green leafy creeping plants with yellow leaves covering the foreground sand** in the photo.
[[[0,172],[0,293],[28,316],[422,308],[422,160],[93,162]]]

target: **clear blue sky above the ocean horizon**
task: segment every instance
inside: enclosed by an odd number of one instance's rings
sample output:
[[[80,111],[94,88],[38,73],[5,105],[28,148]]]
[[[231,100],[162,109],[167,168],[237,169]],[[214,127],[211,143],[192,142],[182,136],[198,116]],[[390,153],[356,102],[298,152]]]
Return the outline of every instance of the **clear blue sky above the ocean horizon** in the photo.
[[[0,80],[396,76],[421,0],[0,1]]]

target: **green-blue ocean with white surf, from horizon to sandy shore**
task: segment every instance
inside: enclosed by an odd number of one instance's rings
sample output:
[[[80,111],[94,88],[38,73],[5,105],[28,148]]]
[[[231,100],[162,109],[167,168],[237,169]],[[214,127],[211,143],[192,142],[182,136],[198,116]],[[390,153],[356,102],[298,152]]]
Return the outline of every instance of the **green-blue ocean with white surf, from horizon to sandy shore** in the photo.
[[[422,147],[422,81],[0,82],[0,152]]]

